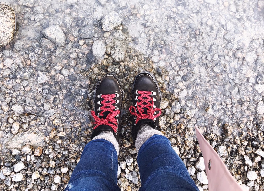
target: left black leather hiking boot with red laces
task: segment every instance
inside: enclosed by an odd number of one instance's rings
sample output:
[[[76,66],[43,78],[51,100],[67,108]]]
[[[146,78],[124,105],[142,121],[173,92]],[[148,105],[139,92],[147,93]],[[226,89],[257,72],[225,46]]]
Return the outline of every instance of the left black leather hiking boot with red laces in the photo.
[[[120,82],[114,75],[107,74],[99,82],[95,92],[95,111],[91,111],[95,124],[91,139],[101,131],[112,131],[117,142],[121,143],[121,104]]]

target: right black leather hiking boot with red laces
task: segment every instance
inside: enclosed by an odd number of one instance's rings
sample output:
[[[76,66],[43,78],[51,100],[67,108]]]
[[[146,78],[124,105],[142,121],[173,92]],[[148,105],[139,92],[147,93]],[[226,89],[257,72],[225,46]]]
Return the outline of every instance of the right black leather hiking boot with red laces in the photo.
[[[159,128],[161,115],[161,91],[155,77],[149,72],[141,72],[135,77],[133,84],[133,106],[129,111],[133,118],[132,138],[136,140],[139,127],[146,123],[153,129]]]

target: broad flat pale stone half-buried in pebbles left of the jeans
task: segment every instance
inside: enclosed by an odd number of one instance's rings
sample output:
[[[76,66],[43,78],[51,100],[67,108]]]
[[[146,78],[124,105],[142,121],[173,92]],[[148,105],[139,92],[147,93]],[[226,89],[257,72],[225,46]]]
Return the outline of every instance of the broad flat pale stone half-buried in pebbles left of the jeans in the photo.
[[[6,146],[10,149],[18,148],[30,144],[34,147],[44,145],[44,133],[36,127],[33,127],[27,131],[17,133],[13,137],[7,139]]]

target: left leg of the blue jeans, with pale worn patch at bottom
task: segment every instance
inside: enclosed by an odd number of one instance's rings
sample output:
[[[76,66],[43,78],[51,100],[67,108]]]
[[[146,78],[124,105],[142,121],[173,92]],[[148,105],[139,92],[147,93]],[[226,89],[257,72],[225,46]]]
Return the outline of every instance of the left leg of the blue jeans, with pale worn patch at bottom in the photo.
[[[117,165],[115,146],[106,139],[93,139],[84,147],[65,190],[120,190]]]

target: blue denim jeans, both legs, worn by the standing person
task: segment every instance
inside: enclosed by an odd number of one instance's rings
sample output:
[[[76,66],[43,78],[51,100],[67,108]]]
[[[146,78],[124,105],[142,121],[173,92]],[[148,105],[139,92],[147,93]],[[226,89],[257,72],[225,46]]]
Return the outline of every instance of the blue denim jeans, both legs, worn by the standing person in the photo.
[[[120,190],[117,153],[105,139],[90,141],[69,180],[68,190]],[[139,149],[140,190],[197,190],[186,166],[162,135],[153,135]]]

